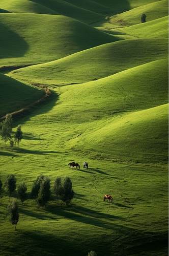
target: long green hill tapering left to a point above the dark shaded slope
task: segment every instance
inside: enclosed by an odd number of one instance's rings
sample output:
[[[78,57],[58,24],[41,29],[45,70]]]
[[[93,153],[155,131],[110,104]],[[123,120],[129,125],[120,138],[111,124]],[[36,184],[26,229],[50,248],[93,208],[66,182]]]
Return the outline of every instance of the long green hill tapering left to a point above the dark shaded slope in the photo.
[[[165,39],[122,40],[56,61],[18,69],[11,72],[10,76],[29,82],[41,81],[48,85],[87,82],[165,58],[167,49]]]

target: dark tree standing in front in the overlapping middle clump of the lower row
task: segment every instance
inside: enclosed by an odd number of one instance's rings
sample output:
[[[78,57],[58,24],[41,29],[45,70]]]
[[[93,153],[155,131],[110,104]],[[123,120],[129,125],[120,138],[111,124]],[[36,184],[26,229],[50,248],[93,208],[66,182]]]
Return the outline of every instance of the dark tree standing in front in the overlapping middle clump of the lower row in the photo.
[[[45,206],[50,198],[50,179],[45,177],[40,186],[39,194],[38,194],[38,204],[40,206]]]

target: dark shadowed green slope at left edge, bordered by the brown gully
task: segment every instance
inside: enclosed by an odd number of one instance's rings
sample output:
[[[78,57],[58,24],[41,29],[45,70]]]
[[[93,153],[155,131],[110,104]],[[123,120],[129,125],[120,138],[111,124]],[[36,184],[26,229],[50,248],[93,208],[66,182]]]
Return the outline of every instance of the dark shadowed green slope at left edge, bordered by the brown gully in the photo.
[[[1,73],[0,91],[0,117],[33,103],[44,94],[42,90]]]

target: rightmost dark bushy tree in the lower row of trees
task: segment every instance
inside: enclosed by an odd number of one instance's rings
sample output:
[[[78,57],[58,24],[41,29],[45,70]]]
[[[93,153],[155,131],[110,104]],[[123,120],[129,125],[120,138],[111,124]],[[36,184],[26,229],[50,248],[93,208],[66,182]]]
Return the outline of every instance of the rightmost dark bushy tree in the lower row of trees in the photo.
[[[72,181],[69,177],[66,177],[62,188],[61,199],[68,205],[73,197],[74,191],[72,189]]]

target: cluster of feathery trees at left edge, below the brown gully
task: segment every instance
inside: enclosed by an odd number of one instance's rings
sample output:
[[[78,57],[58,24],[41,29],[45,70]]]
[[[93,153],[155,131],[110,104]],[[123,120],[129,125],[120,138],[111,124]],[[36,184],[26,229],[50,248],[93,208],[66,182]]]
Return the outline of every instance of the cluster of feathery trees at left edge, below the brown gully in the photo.
[[[12,123],[13,123],[12,115],[7,114],[5,120],[0,123],[0,136],[2,140],[5,141],[6,145],[7,145],[7,142],[9,141],[11,147],[13,147],[14,144],[16,144],[19,147],[19,143],[23,138],[21,125],[18,125],[16,132],[13,135]]]

